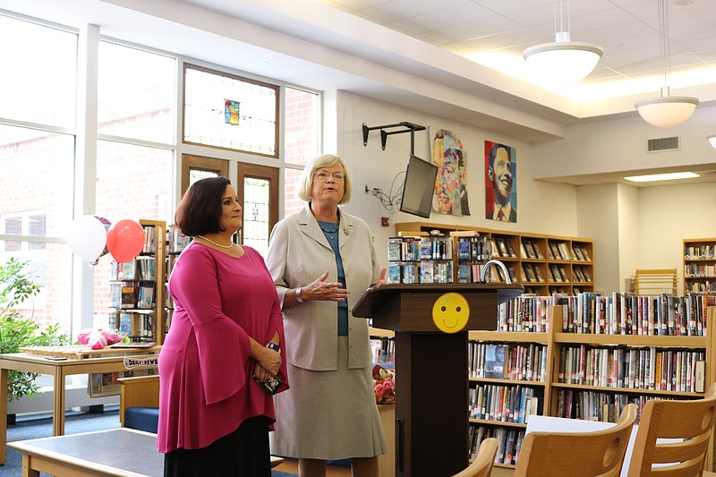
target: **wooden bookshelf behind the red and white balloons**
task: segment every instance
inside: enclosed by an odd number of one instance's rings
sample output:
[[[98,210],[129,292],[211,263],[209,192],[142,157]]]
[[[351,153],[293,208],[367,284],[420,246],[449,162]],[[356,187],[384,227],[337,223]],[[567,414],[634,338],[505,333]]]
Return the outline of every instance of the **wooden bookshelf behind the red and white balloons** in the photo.
[[[166,329],[166,222],[141,219],[145,243],[139,255],[110,269],[109,324],[132,341],[164,342]]]

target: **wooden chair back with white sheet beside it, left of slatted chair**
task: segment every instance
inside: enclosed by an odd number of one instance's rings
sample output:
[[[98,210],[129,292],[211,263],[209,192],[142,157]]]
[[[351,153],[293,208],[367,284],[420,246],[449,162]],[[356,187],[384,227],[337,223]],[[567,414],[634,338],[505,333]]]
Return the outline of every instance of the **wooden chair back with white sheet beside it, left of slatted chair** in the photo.
[[[517,456],[515,477],[612,477],[621,473],[636,405],[626,405],[617,425],[590,432],[530,432]]]

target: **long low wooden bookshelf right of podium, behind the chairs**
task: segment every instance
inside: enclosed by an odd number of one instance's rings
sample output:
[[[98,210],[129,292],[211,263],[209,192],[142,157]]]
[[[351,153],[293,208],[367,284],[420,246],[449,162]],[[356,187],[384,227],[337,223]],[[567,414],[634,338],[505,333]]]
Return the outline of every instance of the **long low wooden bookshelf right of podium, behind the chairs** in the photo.
[[[661,299],[630,294],[612,294],[611,298],[626,303],[616,307],[624,313],[609,314],[618,324],[626,323],[628,302],[648,309],[649,300]],[[716,307],[707,307],[708,299],[703,296],[678,300],[691,303],[695,313],[688,316],[701,323],[700,327],[695,323],[690,328],[684,323],[683,328],[676,318],[665,319],[664,328],[649,328],[644,323],[641,329],[646,334],[621,334],[622,329],[642,332],[634,322],[633,328],[614,325],[611,329],[618,329],[617,334],[590,332],[609,331],[609,327],[594,324],[599,314],[580,313],[584,303],[577,296],[562,298],[563,303],[558,303],[558,297],[523,295],[500,306],[497,331],[469,332],[471,402],[482,399],[483,403],[477,405],[477,412],[473,406],[470,409],[471,449],[479,447],[482,439],[496,437],[502,441],[496,465],[511,468],[524,437],[523,421],[528,421],[531,413],[616,422],[619,411],[629,403],[636,403],[641,414],[647,399],[702,398],[716,380]],[[583,309],[589,308],[584,305]],[[592,308],[599,310],[598,306]],[[589,326],[581,326],[584,321]],[[686,335],[669,335],[684,329]],[[692,329],[694,335],[689,335]],[[495,346],[505,350],[501,376],[488,364],[490,347]],[[497,405],[497,411],[481,413],[482,406],[490,407],[490,403],[492,407]],[[710,450],[709,470],[713,466],[712,454]]]

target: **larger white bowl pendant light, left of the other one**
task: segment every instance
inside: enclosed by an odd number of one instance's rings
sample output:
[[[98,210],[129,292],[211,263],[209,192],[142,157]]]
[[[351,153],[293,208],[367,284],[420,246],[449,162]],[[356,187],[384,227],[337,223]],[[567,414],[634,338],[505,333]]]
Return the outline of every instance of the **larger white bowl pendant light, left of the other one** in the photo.
[[[524,50],[524,61],[541,76],[558,82],[582,80],[592,72],[604,51],[592,43],[571,41],[569,35],[569,0],[559,1],[559,26],[557,23],[557,0],[555,0],[555,33],[553,43],[543,43]],[[564,25],[564,9],[567,4],[567,30]]]

